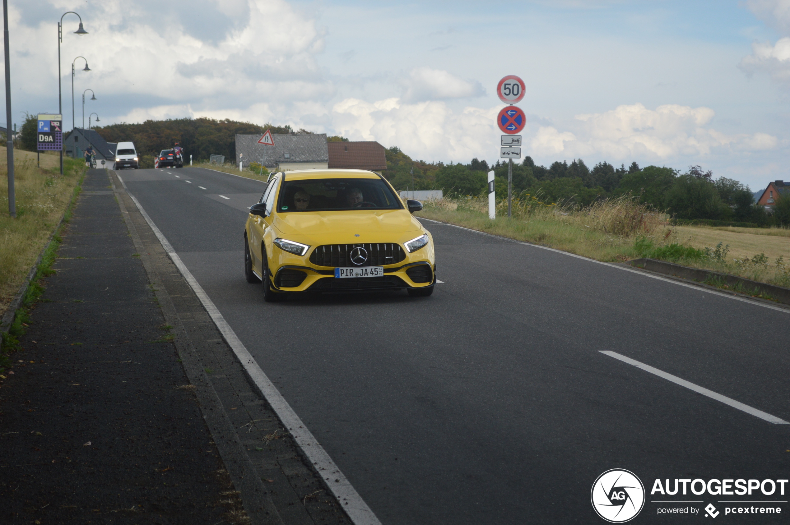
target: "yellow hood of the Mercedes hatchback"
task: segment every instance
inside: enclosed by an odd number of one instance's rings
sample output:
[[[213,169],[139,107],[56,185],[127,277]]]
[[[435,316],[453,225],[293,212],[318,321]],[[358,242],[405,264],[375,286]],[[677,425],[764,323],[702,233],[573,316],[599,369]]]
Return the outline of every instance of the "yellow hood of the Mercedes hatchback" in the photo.
[[[273,227],[285,235],[405,233],[422,225],[406,210],[278,213]]]

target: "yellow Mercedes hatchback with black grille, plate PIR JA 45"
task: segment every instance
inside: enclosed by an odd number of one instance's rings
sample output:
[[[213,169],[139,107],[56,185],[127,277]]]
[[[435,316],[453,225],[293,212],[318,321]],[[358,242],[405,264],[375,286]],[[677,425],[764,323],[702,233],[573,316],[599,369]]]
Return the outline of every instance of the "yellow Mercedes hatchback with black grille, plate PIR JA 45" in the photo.
[[[381,175],[363,170],[273,174],[244,231],[244,273],[265,301],[303,292],[407,290],[436,283],[431,234]]]

